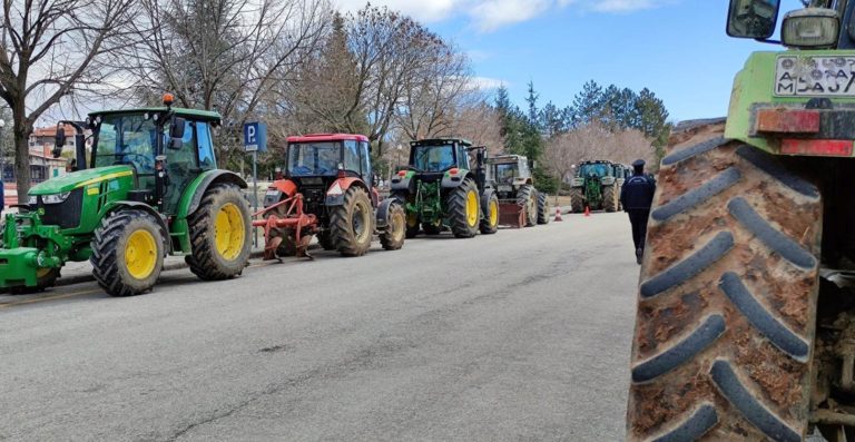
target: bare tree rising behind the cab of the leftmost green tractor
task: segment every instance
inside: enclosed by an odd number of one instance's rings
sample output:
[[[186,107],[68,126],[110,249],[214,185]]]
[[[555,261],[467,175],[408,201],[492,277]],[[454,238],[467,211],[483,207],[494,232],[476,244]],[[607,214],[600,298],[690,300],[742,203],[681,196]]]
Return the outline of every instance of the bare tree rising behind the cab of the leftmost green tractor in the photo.
[[[140,0],[137,45],[124,60],[138,96],[171,91],[184,107],[217,110],[227,121],[220,154],[244,122],[267,112],[275,86],[295,81],[328,24],[326,0]],[[224,151],[225,150],[225,151]],[[227,155],[223,155],[226,157]]]

